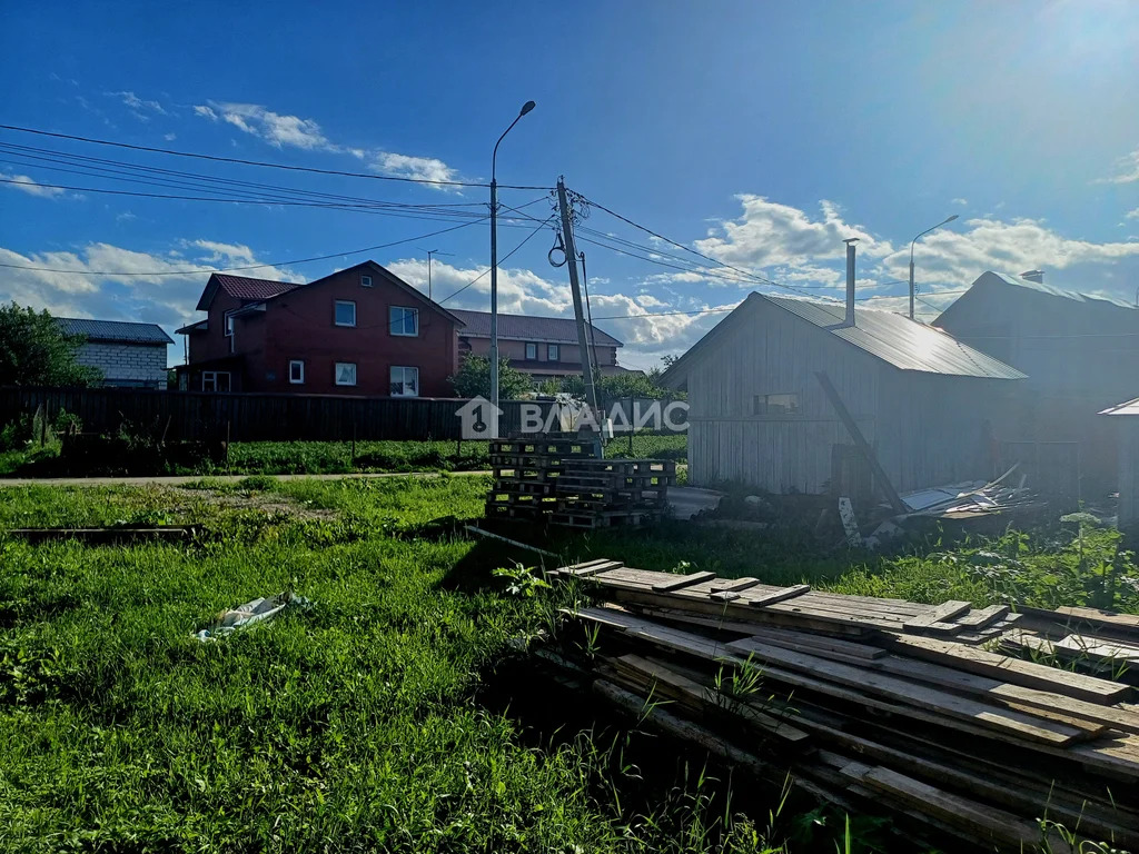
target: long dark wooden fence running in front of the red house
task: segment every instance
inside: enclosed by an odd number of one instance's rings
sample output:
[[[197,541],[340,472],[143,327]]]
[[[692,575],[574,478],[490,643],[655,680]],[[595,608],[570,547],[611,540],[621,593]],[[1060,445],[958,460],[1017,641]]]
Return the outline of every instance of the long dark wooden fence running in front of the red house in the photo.
[[[59,412],[76,416],[84,433],[108,433],[128,426],[167,441],[229,440],[341,441],[457,440],[457,414],[467,401],[429,397],[341,397],[293,394],[213,394],[144,388],[0,388],[0,426],[33,414],[48,419]],[[522,428],[523,404],[503,401],[502,435]],[[631,401],[614,401],[623,409]],[[644,407],[647,401],[640,401]],[[539,402],[543,422],[551,402]],[[612,404],[606,407],[611,411]]]

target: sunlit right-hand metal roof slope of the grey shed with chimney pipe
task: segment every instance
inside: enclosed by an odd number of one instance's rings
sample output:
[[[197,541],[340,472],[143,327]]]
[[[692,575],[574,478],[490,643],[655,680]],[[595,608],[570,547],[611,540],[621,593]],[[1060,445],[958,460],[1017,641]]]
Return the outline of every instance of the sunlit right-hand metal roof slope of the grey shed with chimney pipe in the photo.
[[[817,303],[767,294],[759,296],[904,371],[989,379],[1025,377],[1016,368],[962,344],[948,332],[901,314],[855,309],[854,326],[844,327],[842,323],[846,309],[838,303]]]

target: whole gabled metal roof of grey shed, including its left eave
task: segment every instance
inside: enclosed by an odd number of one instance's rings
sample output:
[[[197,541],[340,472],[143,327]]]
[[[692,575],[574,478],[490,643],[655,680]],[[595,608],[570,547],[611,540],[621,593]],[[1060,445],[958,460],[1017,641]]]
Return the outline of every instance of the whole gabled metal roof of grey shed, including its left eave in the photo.
[[[662,375],[663,385],[677,387],[685,381],[694,356],[735,327],[746,323],[751,312],[765,304],[818,327],[821,331],[899,370],[940,373],[951,377],[1024,379],[1025,375],[1003,362],[962,344],[948,332],[910,320],[901,314],[876,309],[855,309],[854,326],[844,326],[846,306],[812,299],[749,294],[740,305],[700,338]]]

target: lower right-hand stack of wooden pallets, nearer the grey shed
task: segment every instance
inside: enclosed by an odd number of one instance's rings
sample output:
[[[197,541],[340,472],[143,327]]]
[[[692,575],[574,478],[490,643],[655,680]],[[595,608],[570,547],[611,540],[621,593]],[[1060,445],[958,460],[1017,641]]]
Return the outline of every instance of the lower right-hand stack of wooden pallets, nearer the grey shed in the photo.
[[[567,460],[551,520],[584,528],[656,522],[669,509],[669,486],[675,482],[677,465],[670,460]]]

